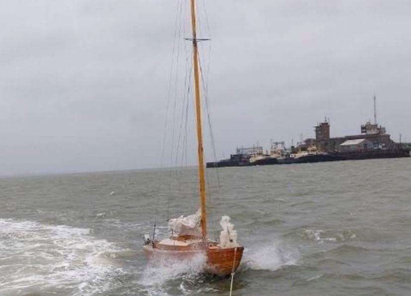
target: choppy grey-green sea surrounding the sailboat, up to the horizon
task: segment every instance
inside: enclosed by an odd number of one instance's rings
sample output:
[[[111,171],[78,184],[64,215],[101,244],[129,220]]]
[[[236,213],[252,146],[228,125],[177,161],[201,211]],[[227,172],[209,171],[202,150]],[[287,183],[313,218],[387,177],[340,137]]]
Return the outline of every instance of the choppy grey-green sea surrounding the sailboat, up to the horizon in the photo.
[[[246,250],[234,295],[410,295],[411,159],[219,169]],[[228,295],[204,258],[147,264],[141,234],[197,205],[196,169],[0,179],[0,295]],[[180,180],[175,182],[175,180]],[[169,211],[167,210],[169,209]]]

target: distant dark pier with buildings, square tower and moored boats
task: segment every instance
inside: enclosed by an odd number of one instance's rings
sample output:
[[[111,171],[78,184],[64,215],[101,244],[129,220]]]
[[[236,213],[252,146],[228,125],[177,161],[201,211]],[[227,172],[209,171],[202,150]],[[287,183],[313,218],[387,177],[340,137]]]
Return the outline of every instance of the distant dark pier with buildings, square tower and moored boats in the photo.
[[[386,129],[375,123],[361,125],[359,135],[331,138],[330,123],[325,120],[315,126],[315,133],[315,139],[306,139],[290,149],[284,142],[272,142],[270,153],[263,153],[262,147],[248,152],[237,149],[229,159],[207,162],[207,167],[410,157],[410,145],[395,143]]]

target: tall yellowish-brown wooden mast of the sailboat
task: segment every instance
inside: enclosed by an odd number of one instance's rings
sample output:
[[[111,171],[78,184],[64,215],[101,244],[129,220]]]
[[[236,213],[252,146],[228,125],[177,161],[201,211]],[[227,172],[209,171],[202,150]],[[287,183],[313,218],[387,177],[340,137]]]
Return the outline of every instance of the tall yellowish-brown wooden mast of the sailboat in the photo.
[[[205,180],[205,168],[204,168],[203,131],[202,131],[202,119],[201,119],[199,51],[198,51],[198,45],[197,45],[196,2],[195,0],[191,0],[191,26],[193,30],[194,91],[195,91],[195,99],[196,99],[197,142],[198,142],[198,158],[199,158],[201,229],[202,229],[203,238],[206,239],[206,236],[207,236],[206,180]]]

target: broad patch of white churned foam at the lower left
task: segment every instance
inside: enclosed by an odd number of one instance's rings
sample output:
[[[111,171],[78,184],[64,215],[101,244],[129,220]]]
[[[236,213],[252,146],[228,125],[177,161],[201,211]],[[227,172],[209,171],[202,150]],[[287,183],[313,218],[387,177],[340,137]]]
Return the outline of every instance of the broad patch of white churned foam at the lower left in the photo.
[[[0,219],[0,295],[26,294],[34,288],[62,288],[71,295],[103,292],[104,283],[121,270],[100,260],[120,251],[86,228]]]

